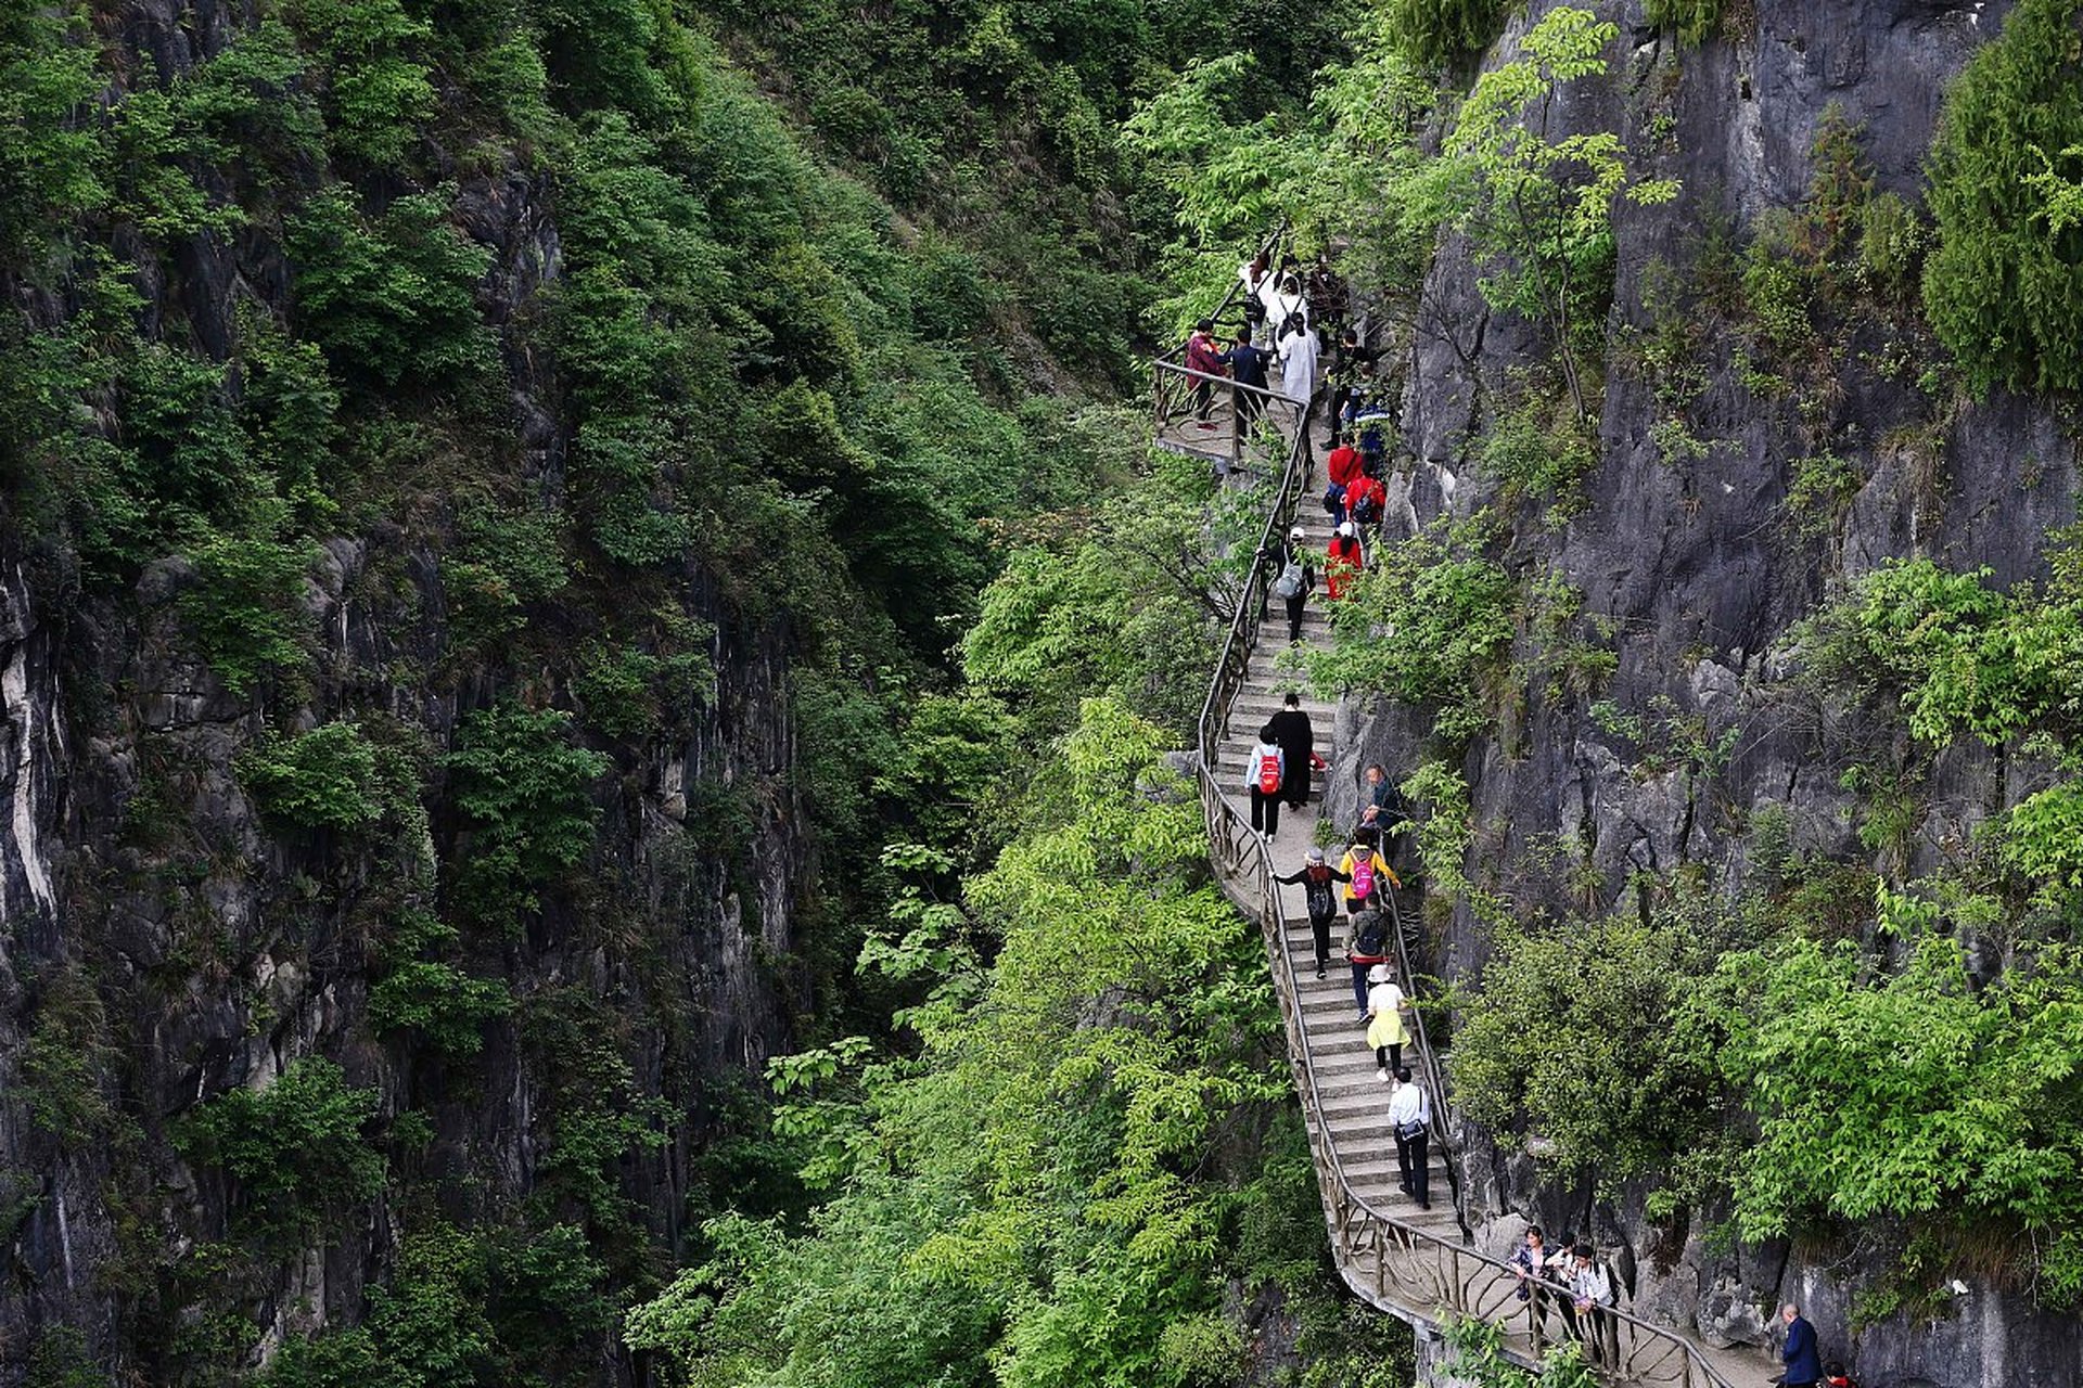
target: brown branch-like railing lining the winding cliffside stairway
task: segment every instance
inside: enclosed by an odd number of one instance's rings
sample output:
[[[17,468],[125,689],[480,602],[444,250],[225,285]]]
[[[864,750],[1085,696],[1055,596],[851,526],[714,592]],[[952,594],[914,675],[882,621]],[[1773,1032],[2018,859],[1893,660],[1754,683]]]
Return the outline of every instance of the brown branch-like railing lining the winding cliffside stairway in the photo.
[[[1158,381],[1164,379],[1164,364],[1156,364]],[[1162,402],[1158,406],[1162,410]],[[1279,483],[1266,510],[1260,531],[1260,549],[1271,554],[1277,541],[1294,522],[1296,506],[1308,485],[1314,458],[1308,429],[1296,429],[1287,445]],[[1308,1036],[1296,1003],[1300,980],[1294,957],[1287,951],[1287,911],[1281,903],[1279,884],[1273,880],[1273,859],[1264,841],[1252,832],[1237,805],[1223,795],[1216,776],[1223,739],[1229,732],[1229,710],[1244,687],[1250,670],[1252,647],[1258,639],[1258,614],[1266,595],[1269,566],[1254,564],[1237,601],[1229,637],[1208,680],[1208,697],[1202,701],[1196,737],[1196,780],[1200,785],[1202,814],[1208,824],[1208,855],[1214,870],[1225,878],[1231,897],[1246,903],[1258,918],[1264,932],[1266,953],[1273,963],[1275,995],[1281,1005],[1281,1024],[1287,1034],[1287,1059],[1294,1070],[1296,1093],[1308,1113],[1310,1155],[1316,1163],[1316,1180],[1323,1190],[1325,1224],[1331,1232],[1331,1251],[1337,1259],[1346,1284],[1369,1305],[1398,1315],[1400,1319],[1437,1328],[1452,1317],[1479,1317],[1504,1330],[1506,1353],[1527,1365],[1564,1336],[1566,1296],[1554,1284],[1531,1282],[1531,1296],[1519,1301],[1521,1278],[1508,1263],[1477,1253],[1475,1249],[1439,1238],[1421,1230],[1394,1213],[1379,1209],[1358,1197],[1348,1180],[1325,1109],[1319,1099],[1316,1070],[1310,1059]],[[1402,918],[1394,918],[1398,949],[1402,943]],[[1404,978],[1412,984],[1408,957],[1402,957]],[[1423,1028],[1423,1020],[1419,1020]],[[1427,1090],[1433,1103],[1433,1142],[1452,1161],[1452,1124],[1444,1103],[1444,1086],[1431,1047],[1423,1030],[1416,1034],[1416,1049],[1425,1068]],[[1458,1174],[1456,1174],[1458,1180]],[[1456,1207],[1460,1192],[1456,1188]],[[1702,1351],[1685,1336],[1643,1321],[1627,1311],[1602,1309],[1596,1334],[1583,1338],[1587,1357],[1602,1369],[1610,1384],[1641,1384],[1643,1388],[1735,1388]]]

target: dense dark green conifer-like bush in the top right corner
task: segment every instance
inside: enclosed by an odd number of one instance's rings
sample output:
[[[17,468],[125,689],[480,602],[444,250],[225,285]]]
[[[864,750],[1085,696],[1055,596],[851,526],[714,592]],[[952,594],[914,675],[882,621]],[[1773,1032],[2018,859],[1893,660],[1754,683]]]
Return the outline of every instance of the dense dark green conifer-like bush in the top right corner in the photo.
[[[2083,6],[2021,0],[1946,96],[1925,312],[1977,393],[2083,389]]]

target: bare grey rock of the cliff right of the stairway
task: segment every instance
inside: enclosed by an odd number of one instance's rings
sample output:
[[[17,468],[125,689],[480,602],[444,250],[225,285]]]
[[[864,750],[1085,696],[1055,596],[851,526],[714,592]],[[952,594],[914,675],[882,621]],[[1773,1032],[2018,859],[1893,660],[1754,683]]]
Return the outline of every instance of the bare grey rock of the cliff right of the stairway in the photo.
[[[1531,6],[1533,19],[1546,8]],[[1571,87],[1552,129],[1616,129],[1648,152],[1648,173],[1681,179],[1683,194],[1621,214],[1598,462],[1581,512],[1519,549],[1519,562],[1552,566],[1583,591],[1585,614],[1610,622],[1618,668],[1598,691],[1535,697],[1523,718],[1506,714],[1464,764],[1471,857],[1502,864],[1489,882],[1521,907],[1571,895],[1535,843],[1571,845],[1579,882],[1598,884],[1600,905],[1616,903],[1637,872],[1689,868],[1741,891],[1743,826],[1762,805],[1785,807],[1804,849],[1875,859],[1839,785],[1858,730],[1787,689],[1787,628],[1887,556],[1989,566],[2000,585],[2035,576],[2046,533],[2077,506],[2077,435],[2052,408],[2002,393],[1935,397],[1929,381],[1918,387],[1923,339],[1885,314],[1833,325],[1829,364],[1798,368],[1789,387],[1760,383],[1739,360],[1741,333],[1716,327],[1712,291],[1700,289],[1718,273],[1714,235],[1741,246],[1775,214],[1812,204],[1827,156],[1818,139],[1833,129],[1854,131],[1875,196],[1914,204],[1946,81],[2006,6],[1756,0],[1725,6],[1721,33],[1700,48],[1652,29],[1639,4],[1598,8],[1623,27],[1614,79]],[[1527,25],[1514,19],[1487,62]],[[1708,231],[1716,225],[1721,233]],[[1691,289],[1658,308],[1666,271]],[[1673,329],[1671,314],[1687,323]],[[1637,350],[1658,331],[1687,337],[1698,375],[1679,391]],[[1412,341],[1404,414],[1419,464],[1400,479],[1406,533],[1500,504],[1477,445],[1512,400],[1512,368],[1541,354],[1529,325],[1485,308],[1466,248],[1446,246]],[[1689,435],[1679,447],[1668,420]],[[1796,495],[1804,460],[1823,454],[1843,464],[1833,499]],[[1643,768],[1589,714],[1593,697],[1696,720],[1708,743],[1731,739],[1725,760],[1704,774]],[[1354,774],[1379,760],[1402,776],[1429,724],[1408,710],[1354,705],[1344,732]],[[1937,870],[1950,845],[2021,793],[2016,772],[1962,751],[1939,757],[1925,791],[1931,812],[1896,864],[1904,872]],[[1344,820],[1348,807],[1333,799],[1333,814]],[[1469,974],[1487,955],[1487,928],[1462,905],[1431,947],[1448,976]],[[1706,1240],[1716,1211],[1681,1224],[1673,1242],[1671,1226],[1654,1226],[1639,1201],[1544,1188],[1523,1151],[1481,1134],[1466,1165],[1473,1211],[1487,1215],[1481,1246],[1506,1251],[1527,1217],[1591,1228],[1621,1249],[1637,1309],[1712,1340],[1764,1342],[1760,1307],[1793,1299],[1812,1307],[1827,1346],[1848,1351],[1868,1386],[2052,1386],[2073,1382],[2083,1363],[2083,1326],[1987,1284],[1962,1284],[1929,1319],[1891,1317],[1850,1336],[1852,1292],[1871,1267],[1841,1251],[1716,1251]]]

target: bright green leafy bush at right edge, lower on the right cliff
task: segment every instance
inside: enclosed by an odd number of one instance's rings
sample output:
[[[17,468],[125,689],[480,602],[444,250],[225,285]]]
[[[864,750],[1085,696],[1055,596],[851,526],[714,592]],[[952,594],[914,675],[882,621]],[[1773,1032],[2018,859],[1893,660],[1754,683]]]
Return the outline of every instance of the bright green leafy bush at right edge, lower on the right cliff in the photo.
[[[1960,947],[1925,939],[1873,978],[1852,943],[1800,941],[1721,966],[1721,1065],[1760,1120],[1737,1222],[1896,1217],[1946,1242],[2010,1242],[1996,1269],[2043,1301],[2083,1296],[2083,968],[2050,949],[1977,988]]]

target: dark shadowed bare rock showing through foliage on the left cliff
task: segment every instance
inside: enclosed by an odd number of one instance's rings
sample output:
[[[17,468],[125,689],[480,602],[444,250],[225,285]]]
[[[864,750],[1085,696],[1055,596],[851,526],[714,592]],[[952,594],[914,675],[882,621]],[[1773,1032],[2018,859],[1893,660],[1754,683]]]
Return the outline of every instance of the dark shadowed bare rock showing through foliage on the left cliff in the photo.
[[[223,52],[237,25],[223,6],[127,4],[125,56],[173,77]],[[467,175],[458,221],[494,252],[479,285],[487,323],[537,310],[562,268],[546,183],[515,169]],[[165,333],[217,360],[237,341],[242,310],[290,312],[283,250],[262,231],[140,252],[135,289],[148,339]],[[35,331],[67,314],[48,285],[0,273],[0,291]],[[508,400],[490,410],[498,427],[483,447],[500,477],[469,481],[556,495],[571,445],[562,383],[519,350],[500,377]],[[115,433],[112,408],[106,416]],[[444,502],[440,485],[427,502]],[[173,1140],[206,1101],[265,1090],[304,1057],[331,1057],[348,1084],[379,1095],[365,1128],[387,1134],[394,1172],[442,1178],[450,1217],[546,1199],[556,1219],[573,1207],[546,1194],[544,1172],[571,1161],[556,1149],[571,1095],[552,1090],[585,1080],[564,1074],[571,1036],[598,1043],[604,1068],[592,1078],[617,1093],[594,1099],[656,1105],[644,1109],[656,1136],[610,1151],[602,1174],[652,1246],[681,1246],[719,1115],[808,1005],[785,961],[812,870],[792,789],[800,643],[787,620],[725,601],[692,562],[656,591],[689,626],[712,628],[714,687],[679,687],[664,735],[587,735],[612,757],[585,789],[600,832],[523,930],[465,943],[462,972],[504,984],[512,1005],[473,1022],[481,1053],[458,1059],[412,1026],[379,1028],[371,980],[396,911],[412,903],[412,874],[469,849],[473,824],[444,770],[458,722],[517,691],[569,703],[567,668],[473,651],[429,531],[342,516],[304,583],[306,674],[233,693],[185,626],[194,564],[165,558],[133,583],[90,587],[71,551],[10,508],[0,1382],[21,1382],[54,1326],[81,1332],[119,1382],[175,1382],[202,1357],[210,1315],[258,1326],[248,1363],[290,1334],[362,1315],[365,1284],[396,1261],[398,1209],[379,1199],[298,1249],[246,1259],[225,1242],[242,1197]],[[558,599],[531,620],[562,649],[587,635],[589,616]],[[256,805],[240,749],[344,716],[381,724],[427,776],[412,795],[427,814],[417,828],[367,837],[283,824]],[[544,1018],[571,1026],[537,1026]],[[415,1136],[400,1142],[406,1113]],[[602,1378],[627,1371],[600,1355]]]

